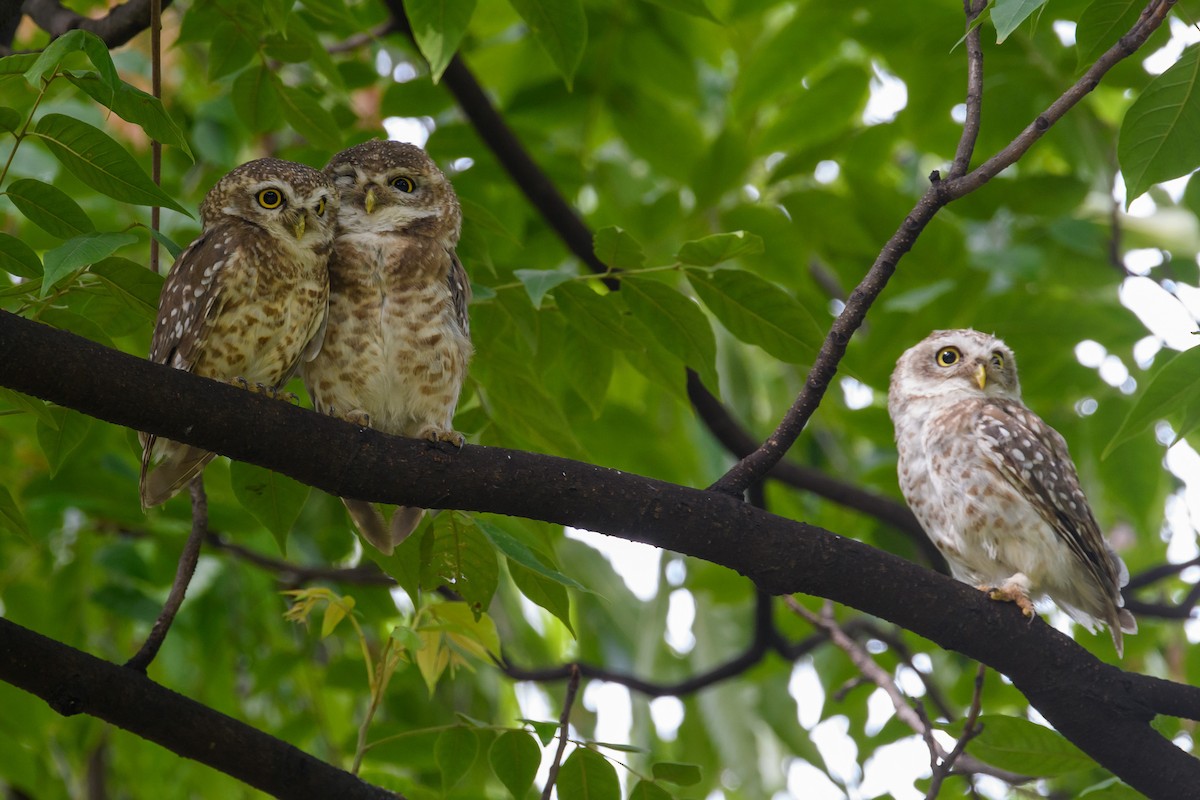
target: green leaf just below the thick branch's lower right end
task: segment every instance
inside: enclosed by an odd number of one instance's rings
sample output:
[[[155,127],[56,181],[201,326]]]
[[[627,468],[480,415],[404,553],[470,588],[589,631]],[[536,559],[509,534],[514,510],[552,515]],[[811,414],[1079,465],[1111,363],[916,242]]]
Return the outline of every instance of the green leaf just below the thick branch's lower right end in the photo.
[[[1078,770],[1091,770],[1096,762],[1056,730],[1000,714],[979,717],[983,730],[967,745],[967,752],[982,762],[1021,775],[1054,777]],[[946,726],[952,735],[961,735],[962,722]]]

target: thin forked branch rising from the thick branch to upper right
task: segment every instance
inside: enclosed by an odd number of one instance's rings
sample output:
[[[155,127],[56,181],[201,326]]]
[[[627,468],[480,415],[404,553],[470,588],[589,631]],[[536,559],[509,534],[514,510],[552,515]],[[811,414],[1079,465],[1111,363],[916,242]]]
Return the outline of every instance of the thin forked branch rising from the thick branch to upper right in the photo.
[[[929,188],[917,201],[917,205],[913,206],[912,211],[908,212],[908,216],[905,217],[904,223],[892,235],[892,239],[883,246],[883,249],[880,251],[871,269],[868,270],[862,283],[851,293],[846,301],[846,307],[838,315],[838,319],[834,320],[833,326],[829,329],[829,335],[821,345],[821,353],[817,355],[816,362],[812,365],[812,369],[804,381],[804,387],[800,390],[799,396],[797,396],[796,402],[792,403],[792,407],[784,415],[779,427],[767,437],[767,440],[755,452],[743,458],[733,469],[716,481],[712,486],[713,489],[740,495],[748,486],[762,480],[770,471],[770,468],[779,463],[784,453],[791,449],[796,439],[804,431],[809,419],[817,410],[826,390],[828,390],[829,384],[838,373],[838,365],[841,362],[842,356],[846,355],[846,345],[850,343],[851,337],[862,326],[863,320],[866,318],[866,312],[875,302],[875,299],[880,296],[880,293],[883,291],[883,288],[895,272],[900,259],[912,248],[913,242],[917,241],[917,236],[925,229],[925,225],[929,224],[943,206],[973,192],[1000,174],[1001,170],[1016,163],[1018,158],[1024,156],[1033,146],[1034,142],[1045,136],[1045,132],[1062,119],[1063,114],[1099,85],[1100,78],[1114,65],[1134,53],[1150,38],[1150,35],[1163,24],[1163,20],[1174,5],[1175,0],[1151,0],[1129,32],[1097,59],[1074,85],[1067,89],[1045,112],[1039,114],[1033,122],[995,156],[961,176],[954,172],[959,167],[958,163],[952,168],[946,180],[942,180],[936,172],[930,176]],[[968,14],[972,7],[968,5]],[[978,36],[978,30],[973,35]],[[973,68],[982,68],[982,64],[980,55],[977,67],[968,67],[968,72]],[[968,100],[970,94],[971,90],[968,90]],[[978,112],[979,107],[976,106],[976,113]],[[956,162],[961,161],[966,163],[970,161],[970,154],[966,152],[968,148],[965,143],[968,138],[973,138],[977,130],[978,122],[971,124],[968,121],[964,126]]]

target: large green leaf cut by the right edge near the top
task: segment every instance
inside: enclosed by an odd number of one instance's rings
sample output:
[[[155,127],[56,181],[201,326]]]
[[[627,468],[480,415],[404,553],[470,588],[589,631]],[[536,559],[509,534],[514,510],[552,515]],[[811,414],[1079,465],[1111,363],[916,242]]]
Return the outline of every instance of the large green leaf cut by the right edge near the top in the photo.
[[[1126,207],[1154,184],[1200,167],[1200,47],[1189,47],[1133,102],[1121,122],[1117,161]]]

